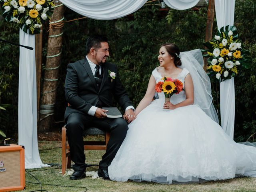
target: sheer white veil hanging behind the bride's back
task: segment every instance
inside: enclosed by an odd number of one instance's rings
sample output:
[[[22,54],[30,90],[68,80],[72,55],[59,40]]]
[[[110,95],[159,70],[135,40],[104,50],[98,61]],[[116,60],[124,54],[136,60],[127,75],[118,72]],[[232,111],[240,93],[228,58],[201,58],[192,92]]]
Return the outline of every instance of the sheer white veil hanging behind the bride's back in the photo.
[[[200,49],[180,52],[182,65],[192,77],[194,84],[194,104],[198,105],[212,120],[219,122],[216,110],[212,104],[212,89],[210,78],[203,69],[204,60]]]

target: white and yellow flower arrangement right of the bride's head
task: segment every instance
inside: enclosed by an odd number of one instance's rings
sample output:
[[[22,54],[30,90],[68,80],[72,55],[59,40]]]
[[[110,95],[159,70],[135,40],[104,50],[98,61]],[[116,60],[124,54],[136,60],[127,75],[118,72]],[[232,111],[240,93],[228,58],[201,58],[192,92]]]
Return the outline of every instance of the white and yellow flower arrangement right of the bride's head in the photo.
[[[204,43],[208,49],[204,57],[208,57],[207,72],[221,81],[230,79],[238,74],[240,66],[248,69],[252,62],[250,53],[244,49],[238,39],[235,26],[225,26],[218,30],[214,38]]]

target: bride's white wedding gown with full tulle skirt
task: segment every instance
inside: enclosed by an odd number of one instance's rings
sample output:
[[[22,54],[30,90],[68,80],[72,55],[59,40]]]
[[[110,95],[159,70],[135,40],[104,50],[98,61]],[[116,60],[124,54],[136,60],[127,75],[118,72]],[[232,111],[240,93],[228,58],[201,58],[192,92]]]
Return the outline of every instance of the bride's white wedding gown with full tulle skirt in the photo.
[[[178,79],[184,84],[184,68]],[[156,82],[162,76],[152,72]],[[256,148],[237,144],[196,105],[164,110],[164,93],[129,124],[127,136],[108,167],[111,180],[171,184],[256,176]],[[185,92],[171,97],[177,104]]]

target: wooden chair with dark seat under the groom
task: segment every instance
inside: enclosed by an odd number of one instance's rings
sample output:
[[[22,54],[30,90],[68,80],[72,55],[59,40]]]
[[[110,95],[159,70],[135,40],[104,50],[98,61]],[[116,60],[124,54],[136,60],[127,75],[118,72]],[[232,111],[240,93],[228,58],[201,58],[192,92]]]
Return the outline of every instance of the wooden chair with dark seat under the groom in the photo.
[[[98,128],[91,127],[84,131],[85,135],[105,135],[105,141],[84,141],[84,150],[106,150],[108,140],[110,137],[109,132],[104,132]],[[70,148],[67,142],[66,125],[62,127],[62,175],[66,172],[67,168],[71,166]]]

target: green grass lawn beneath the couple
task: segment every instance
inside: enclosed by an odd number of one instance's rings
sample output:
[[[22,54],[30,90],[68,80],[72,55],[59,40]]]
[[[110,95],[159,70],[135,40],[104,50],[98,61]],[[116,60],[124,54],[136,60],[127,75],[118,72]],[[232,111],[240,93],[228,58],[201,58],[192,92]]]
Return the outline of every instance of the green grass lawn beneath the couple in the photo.
[[[61,164],[61,142],[40,141],[40,157],[43,163]],[[51,149],[51,150],[48,150]],[[86,151],[86,162],[98,164],[104,151]],[[97,166],[87,168],[86,171],[97,171]],[[41,183],[42,189],[48,192],[256,192],[256,178],[235,178],[223,181],[206,182],[202,184],[157,184],[149,182],[114,182],[100,178],[86,177],[82,180],[71,181],[69,176],[62,176],[61,168],[52,166],[50,168],[27,170]],[[26,192],[40,190],[40,184],[30,174],[26,173]],[[55,184],[61,186],[51,186]],[[73,186],[73,187],[62,187]],[[85,187],[85,188],[79,188]]]

